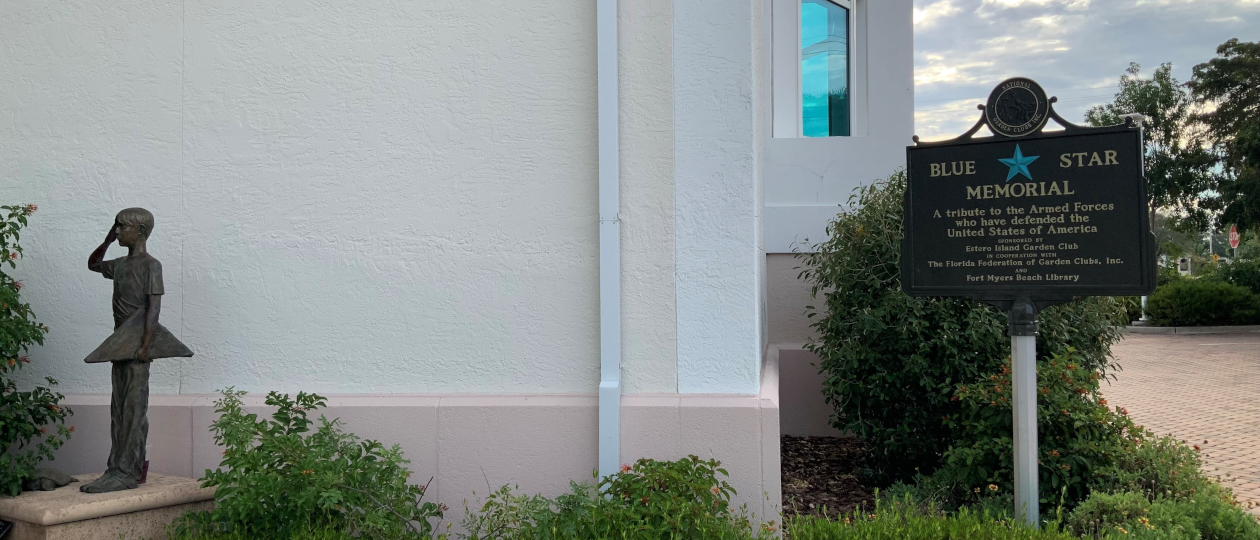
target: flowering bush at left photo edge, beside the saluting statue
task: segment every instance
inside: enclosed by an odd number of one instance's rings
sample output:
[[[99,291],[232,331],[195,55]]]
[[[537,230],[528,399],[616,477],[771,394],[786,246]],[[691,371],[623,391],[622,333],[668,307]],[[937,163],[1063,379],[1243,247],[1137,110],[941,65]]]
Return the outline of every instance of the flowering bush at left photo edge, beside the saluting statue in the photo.
[[[71,409],[60,407],[62,394],[52,390],[53,378],[44,378],[48,386],[18,390],[16,373],[30,359],[32,345],[43,345],[48,326],[35,321],[30,305],[20,298],[21,282],[4,271],[4,264],[16,268],[21,258],[18,240],[26,227],[26,218],[35,205],[0,206],[0,496],[18,495],[43,459],[52,459],[53,451],[69,438],[73,427],[66,427]],[[49,433],[49,428],[53,428]]]

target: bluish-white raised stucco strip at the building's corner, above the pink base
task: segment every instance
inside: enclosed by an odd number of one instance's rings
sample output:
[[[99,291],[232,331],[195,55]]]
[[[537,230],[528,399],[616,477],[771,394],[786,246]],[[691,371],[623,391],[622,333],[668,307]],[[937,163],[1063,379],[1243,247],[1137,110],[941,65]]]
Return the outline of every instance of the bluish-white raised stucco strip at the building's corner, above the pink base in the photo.
[[[674,3],[678,390],[755,394],[762,354],[752,0]],[[760,259],[759,259],[760,257]]]

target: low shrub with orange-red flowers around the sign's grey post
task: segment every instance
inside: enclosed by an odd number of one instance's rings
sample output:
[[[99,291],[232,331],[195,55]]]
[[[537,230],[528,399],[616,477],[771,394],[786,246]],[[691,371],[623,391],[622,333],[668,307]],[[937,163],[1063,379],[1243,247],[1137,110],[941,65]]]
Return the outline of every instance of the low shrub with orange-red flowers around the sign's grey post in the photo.
[[[1068,350],[1037,363],[1038,486],[1041,502],[1076,506],[1101,471],[1133,452],[1144,432],[1099,395],[1097,371]],[[949,418],[955,444],[935,477],[955,486],[955,497],[1014,488],[1009,361],[987,378],[959,385],[961,412]],[[993,487],[990,487],[993,486]],[[1066,491],[1065,491],[1066,488]],[[969,493],[970,492],[970,493]]]

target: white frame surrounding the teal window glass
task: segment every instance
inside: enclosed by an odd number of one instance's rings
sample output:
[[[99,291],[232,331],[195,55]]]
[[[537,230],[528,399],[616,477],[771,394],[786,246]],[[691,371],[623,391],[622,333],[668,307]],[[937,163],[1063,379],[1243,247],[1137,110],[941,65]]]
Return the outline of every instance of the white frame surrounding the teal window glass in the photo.
[[[828,0],[849,10],[849,137],[867,133],[867,24],[868,0]],[[800,93],[800,0],[772,0],[771,94],[775,138],[805,137]],[[844,138],[808,137],[808,138]]]

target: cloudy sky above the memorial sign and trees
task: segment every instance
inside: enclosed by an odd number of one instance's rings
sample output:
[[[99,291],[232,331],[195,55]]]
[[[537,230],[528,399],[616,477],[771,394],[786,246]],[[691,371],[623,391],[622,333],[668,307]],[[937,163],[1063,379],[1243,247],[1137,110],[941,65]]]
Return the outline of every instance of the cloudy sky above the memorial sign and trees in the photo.
[[[1017,76],[1081,122],[1130,62],[1148,76],[1172,62],[1184,82],[1230,38],[1260,40],[1260,0],[915,0],[915,133],[961,135],[975,104]]]

